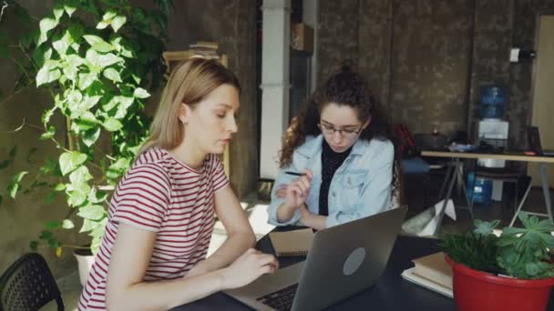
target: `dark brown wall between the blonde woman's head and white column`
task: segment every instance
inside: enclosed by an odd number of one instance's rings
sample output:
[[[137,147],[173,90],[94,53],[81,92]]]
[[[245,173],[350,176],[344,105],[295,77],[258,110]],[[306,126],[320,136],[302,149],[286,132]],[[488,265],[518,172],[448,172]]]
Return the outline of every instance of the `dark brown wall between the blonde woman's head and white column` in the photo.
[[[255,189],[260,133],[256,102],[255,0],[175,1],[169,20],[168,50],[185,50],[196,41],[215,41],[229,56],[229,67],[241,82],[239,132],[230,145],[231,186],[239,197]]]

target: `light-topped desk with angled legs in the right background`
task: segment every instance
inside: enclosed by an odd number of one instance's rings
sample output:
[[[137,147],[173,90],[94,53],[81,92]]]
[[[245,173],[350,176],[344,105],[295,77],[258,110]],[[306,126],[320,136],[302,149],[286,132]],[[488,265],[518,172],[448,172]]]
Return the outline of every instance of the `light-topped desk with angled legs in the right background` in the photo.
[[[548,163],[554,163],[554,156],[526,156],[526,155],[506,155],[506,154],[477,154],[477,153],[464,153],[464,152],[449,152],[449,151],[422,151],[421,156],[433,156],[433,157],[446,157],[446,158],[452,158],[454,161],[454,172],[451,176],[449,176],[448,173],[446,173],[445,181],[448,182],[448,189],[446,192],[445,197],[445,203],[441,211],[441,215],[439,217],[438,226],[436,226],[436,232],[438,231],[438,227],[440,226],[440,223],[442,222],[442,218],[445,213],[446,209],[446,203],[448,202],[448,199],[450,199],[450,196],[452,195],[452,187],[454,186],[454,183],[456,181],[457,176],[460,174],[460,159],[480,159],[480,158],[487,158],[487,159],[498,159],[498,160],[508,160],[508,161],[520,161],[520,162],[537,162],[539,163],[539,174],[540,174],[540,184],[542,186],[542,193],[544,195],[545,200],[545,206],[547,209],[546,214],[542,213],[530,213],[532,215],[538,215],[538,216],[548,216],[550,221],[553,221],[552,218],[552,200],[550,198],[550,191],[549,191],[549,181],[547,177],[547,167],[546,164]],[[448,181],[448,179],[450,179]],[[521,210],[521,207],[523,207],[523,204],[525,203],[525,199],[528,196],[528,192],[531,188],[532,181],[529,183],[529,186],[525,192],[525,195],[521,199],[521,203],[518,206],[518,210],[516,211],[516,214],[512,218],[512,221],[510,222],[509,226],[513,226],[514,222],[516,221],[518,217],[518,213]],[[445,184],[446,185],[446,184]],[[467,196],[465,194],[465,196]],[[471,211],[471,210],[470,210]],[[471,216],[473,216],[473,211],[471,211]],[[435,234],[436,234],[435,232]]]

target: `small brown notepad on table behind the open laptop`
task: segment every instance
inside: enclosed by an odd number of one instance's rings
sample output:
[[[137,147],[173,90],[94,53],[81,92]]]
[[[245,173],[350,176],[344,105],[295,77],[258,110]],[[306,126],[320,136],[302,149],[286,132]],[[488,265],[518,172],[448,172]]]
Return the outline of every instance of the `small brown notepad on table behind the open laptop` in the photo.
[[[306,256],[313,241],[311,228],[271,232],[270,240],[277,256]]]

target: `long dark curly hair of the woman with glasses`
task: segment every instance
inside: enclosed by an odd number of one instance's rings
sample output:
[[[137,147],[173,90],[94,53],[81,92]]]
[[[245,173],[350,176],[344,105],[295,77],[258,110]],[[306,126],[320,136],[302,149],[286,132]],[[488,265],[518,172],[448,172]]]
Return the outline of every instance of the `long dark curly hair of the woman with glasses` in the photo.
[[[292,119],[283,138],[279,158],[281,167],[291,164],[294,149],[303,145],[307,135],[321,134],[317,126],[320,123],[320,114],[331,103],[354,108],[362,122],[371,118],[371,123],[364,128],[359,139],[369,141],[376,138],[390,140],[395,144],[392,127],[382,114],[381,107],[364,78],[352,71],[349,65],[343,65],[310,96],[303,111]]]

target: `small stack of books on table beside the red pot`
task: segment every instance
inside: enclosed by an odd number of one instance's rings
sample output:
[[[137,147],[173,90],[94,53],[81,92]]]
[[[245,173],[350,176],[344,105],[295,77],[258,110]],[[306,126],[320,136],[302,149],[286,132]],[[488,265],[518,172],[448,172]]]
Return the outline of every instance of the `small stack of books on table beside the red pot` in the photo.
[[[419,286],[453,297],[452,268],[446,264],[445,253],[439,252],[412,261],[414,267],[406,269],[402,277]]]

